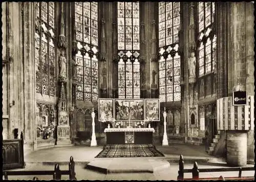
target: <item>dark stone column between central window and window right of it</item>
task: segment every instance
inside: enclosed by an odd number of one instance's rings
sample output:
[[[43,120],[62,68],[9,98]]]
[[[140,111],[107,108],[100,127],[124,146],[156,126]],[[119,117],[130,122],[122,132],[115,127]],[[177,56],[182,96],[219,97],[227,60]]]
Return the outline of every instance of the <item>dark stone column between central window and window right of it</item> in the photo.
[[[155,84],[158,85],[158,65],[155,60],[155,54],[158,52],[156,40],[156,22],[153,20],[158,19],[157,14],[157,4],[158,2],[141,2],[140,3],[140,52],[142,53],[142,61],[145,61],[145,64],[142,64],[140,75],[141,75],[141,88],[144,92],[145,98],[151,98],[151,91],[157,92],[156,89],[151,90],[152,81],[153,81],[153,71],[155,70]],[[153,23],[153,24],[152,24]],[[153,59],[152,59],[153,58]],[[153,62],[152,62],[153,61]],[[158,61],[158,60],[157,60]],[[154,85],[155,86],[155,85]]]

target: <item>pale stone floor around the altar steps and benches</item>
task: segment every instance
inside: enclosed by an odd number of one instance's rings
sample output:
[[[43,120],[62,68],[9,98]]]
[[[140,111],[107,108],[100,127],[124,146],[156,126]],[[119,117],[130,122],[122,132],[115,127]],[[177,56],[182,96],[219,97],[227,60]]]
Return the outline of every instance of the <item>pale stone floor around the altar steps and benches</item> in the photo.
[[[204,150],[204,146],[195,146],[190,144],[171,144],[168,147],[156,146],[157,150],[162,152],[164,157],[137,157],[118,158],[120,161],[118,166],[131,166],[134,164],[133,160],[139,161],[167,161],[169,166],[154,170],[154,172],[116,172],[116,173],[102,173],[87,169],[86,166],[89,162],[93,162],[94,158],[103,146],[90,147],[90,146],[67,146],[67,147],[54,147],[50,149],[41,149],[27,153],[25,155],[26,168],[22,170],[53,170],[54,164],[60,165],[60,170],[68,170],[69,158],[72,155],[76,163],[75,172],[78,180],[177,180],[179,165],[179,155],[184,157],[184,169],[192,169],[193,162],[197,161],[200,168],[221,168],[227,167],[223,158],[217,158],[208,155]],[[102,160],[103,162],[104,160]],[[253,167],[253,165],[247,165]],[[219,177],[223,175],[238,176],[238,172],[211,172],[200,173],[200,177]],[[254,176],[254,171],[243,171],[242,176]],[[39,179],[49,180],[52,176],[37,176]],[[185,173],[184,178],[190,178],[191,174]],[[32,179],[33,176],[8,176],[9,179]],[[68,179],[69,176],[63,175],[61,179]]]

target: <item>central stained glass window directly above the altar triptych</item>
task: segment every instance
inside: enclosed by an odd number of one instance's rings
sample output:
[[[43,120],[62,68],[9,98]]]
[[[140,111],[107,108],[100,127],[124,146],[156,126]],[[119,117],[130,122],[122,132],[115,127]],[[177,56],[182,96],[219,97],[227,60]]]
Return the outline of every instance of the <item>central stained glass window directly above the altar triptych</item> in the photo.
[[[140,98],[139,2],[118,2],[118,96]]]

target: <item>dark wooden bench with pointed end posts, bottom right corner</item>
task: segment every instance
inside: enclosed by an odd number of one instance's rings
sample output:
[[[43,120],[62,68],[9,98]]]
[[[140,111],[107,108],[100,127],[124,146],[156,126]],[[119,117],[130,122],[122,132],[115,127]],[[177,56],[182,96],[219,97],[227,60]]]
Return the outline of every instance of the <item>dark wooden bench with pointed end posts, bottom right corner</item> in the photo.
[[[209,177],[209,178],[199,178],[199,172],[228,172],[228,171],[239,171],[238,177]],[[242,171],[254,171],[254,167],[236,167],[236,168],[210,168],[210,169],[198,169],[197,162],[194,162],[193,169],[184,169],[183,156],[180,155],[179,160],[179,171],[178,180],[254,180],[253,176],[242,177]],[[192,178],[184,178],[184,173],[192,173]]]

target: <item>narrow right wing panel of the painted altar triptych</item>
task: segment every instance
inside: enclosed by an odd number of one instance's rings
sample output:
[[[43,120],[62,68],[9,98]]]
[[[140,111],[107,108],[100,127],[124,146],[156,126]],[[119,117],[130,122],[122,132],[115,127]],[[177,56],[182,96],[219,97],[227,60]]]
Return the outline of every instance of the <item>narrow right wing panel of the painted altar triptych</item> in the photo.
[[[145,99],[145,119],[160,121],[160,102],[159,99]]]

